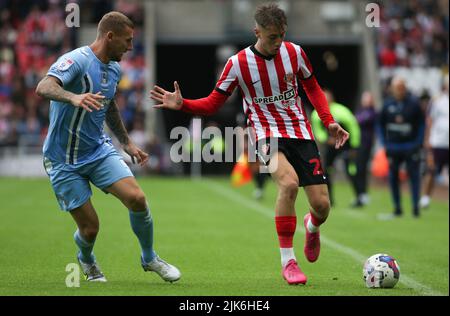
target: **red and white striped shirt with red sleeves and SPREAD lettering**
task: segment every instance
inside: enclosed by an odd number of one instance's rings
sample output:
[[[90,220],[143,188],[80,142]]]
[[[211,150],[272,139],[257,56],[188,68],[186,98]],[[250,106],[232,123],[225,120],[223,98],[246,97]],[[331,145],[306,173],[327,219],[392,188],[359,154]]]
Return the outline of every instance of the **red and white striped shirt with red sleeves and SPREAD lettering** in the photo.
[[[298,78],[309,80],[311,77],[311,64],[300,46],[283,42],[277,55],[272,58],[261,55],[254,46],[250,46],[228,59],[215,90],[229,96],[239,86],[244,112],[256,131],[257,140],[266,137],[312,140],[314,136],[311,125],[298,95]],[[317,85],[315,78],[313,79]],[[317,88],[320,90],[318,85]],[[308,89],[305,90],[308,93]],[[309,94],[308,97],[311,99]],[[322,96],[320,98],[324,99]],[[200,104],[195,102],[201,100],[216,103],[212,108],[217,110],[226,98],[221,99],[217,94],[211,94],[208,99],[185,99],[184,110],[201,113],[202,111],[198,111]],[[321,101],[314,104],[314,107],[319,115],[323,114],[320,115],[322,121],[328,126],[333,118],[326,101],[325,104]],[[209,114],[206,112],[211,111],[203,112]]]

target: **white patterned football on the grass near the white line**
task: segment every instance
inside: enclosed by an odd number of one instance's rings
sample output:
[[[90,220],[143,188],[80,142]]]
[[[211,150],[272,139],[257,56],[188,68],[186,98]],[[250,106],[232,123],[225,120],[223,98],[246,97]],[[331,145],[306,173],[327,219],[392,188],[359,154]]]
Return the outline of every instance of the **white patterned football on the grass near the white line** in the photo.
[[[378,253],[364,263],[363,277],[368,288],[392,288],[400,279],[400,266],[393,257]]]

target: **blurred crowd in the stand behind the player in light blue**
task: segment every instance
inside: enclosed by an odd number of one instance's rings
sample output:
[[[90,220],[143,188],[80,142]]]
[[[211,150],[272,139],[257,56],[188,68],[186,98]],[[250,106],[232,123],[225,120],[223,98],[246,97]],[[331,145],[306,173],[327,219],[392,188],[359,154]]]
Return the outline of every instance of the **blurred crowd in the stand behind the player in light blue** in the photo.
[[[117,103],[129,131],[144,124],[145,59],[142,5],[134,1],[70,1],[81,23],[97,23],[111,10],[135,23],[134,50],[121,62]],[[39,80],[62,54],[77,47],[76,28],[65,24],[66,1],[0,1],[0,147],[41,146],[47,134],[49,102],[35,94]],[[89,8],[89,10],[87,9]]]

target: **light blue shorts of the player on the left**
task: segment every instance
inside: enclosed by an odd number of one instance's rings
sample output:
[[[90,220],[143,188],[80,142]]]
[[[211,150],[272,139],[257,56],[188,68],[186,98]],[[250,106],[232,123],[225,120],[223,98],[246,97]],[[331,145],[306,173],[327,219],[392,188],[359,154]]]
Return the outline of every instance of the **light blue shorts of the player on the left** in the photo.
[[[44,157],[44,166],[63,211],[71,211],[87,202],[92,195],[89,182],[104,191],[120,179],[133,177],[122,156],[115,151],[79,167],[53,162]]]

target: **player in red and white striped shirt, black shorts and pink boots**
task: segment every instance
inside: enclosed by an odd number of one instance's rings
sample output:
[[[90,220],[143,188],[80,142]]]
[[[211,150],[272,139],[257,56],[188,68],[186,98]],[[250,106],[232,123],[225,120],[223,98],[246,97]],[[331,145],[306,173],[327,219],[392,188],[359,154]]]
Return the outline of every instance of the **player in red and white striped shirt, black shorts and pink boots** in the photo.
[[[184,99],[178,83],[174,92],[159,86],[151,91],[158,102],[155,107],[208,115],[224,104],[236,87],[243,96],[243,110],[256,133],[258,150],[269,153],[268,165],[278,186],[275,225],[278,234],[282,276],[289,284],[305,284],[306,276],[294,254],[293,237],[297,227],[295,200],[298,187],[304,187],[310,209],[304,217],[306,230],[304,253],[308,261],[319,257],[319,226],[330,210],[327,179],[320,163],[311,125],[298,95],[302,84],[328,132],[336,139],[338,149],[348,133],[333,120],[327,100],[314,77],[304,50],[284,41],[287,30],[285,13],[275,4],[261,5],[255,13],[254,45],[231,56],[211,94],[202,99]],[[271,138],[278,150],[270,152]],[[259,155],[262,157],[261,153]]]

